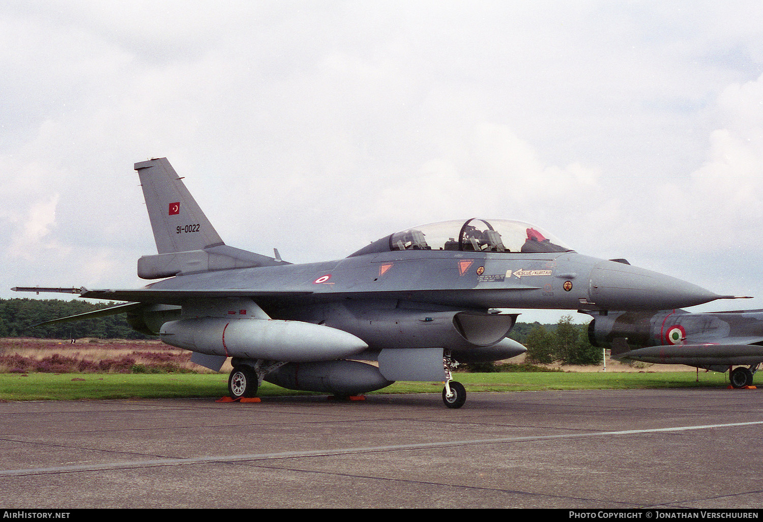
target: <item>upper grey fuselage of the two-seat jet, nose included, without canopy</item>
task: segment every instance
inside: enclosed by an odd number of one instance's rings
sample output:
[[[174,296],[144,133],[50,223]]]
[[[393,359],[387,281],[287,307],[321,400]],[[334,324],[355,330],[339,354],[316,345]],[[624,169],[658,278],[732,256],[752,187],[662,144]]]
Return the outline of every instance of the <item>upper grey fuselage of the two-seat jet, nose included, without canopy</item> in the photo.
[[[148,289],[134,300],[181,304],[183,291],[192,289],[197,297],[208,290],[210,297],[220,292],[251,295],[266,305],[397,299],[477,309],[664,310],[720,297],[668,275],[575,252],[443,250],[403,250],[322,263],[180,275]],[[131,300],[127,292],[120,291],[120,298]],[[85,297],[95,295],[91,292]]]

